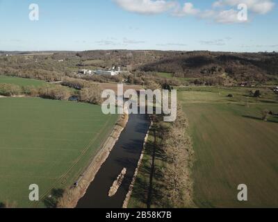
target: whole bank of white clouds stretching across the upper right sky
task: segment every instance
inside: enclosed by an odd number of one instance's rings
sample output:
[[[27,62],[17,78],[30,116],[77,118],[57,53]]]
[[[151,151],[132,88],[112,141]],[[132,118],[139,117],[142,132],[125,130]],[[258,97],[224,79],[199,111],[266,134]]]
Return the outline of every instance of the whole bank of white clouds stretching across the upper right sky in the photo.
[[[238,4],[245,3],[248,11],[264,15],[275,6],[273,0],[215,0],[212,8],[200,10],[193,3],[186,2],[183,6],[177,0],[113,0],[118,6],[130,12],[141,14],[159,14],[171,12],[172,15],[183,17],[191,15],[199,19],[210,19],[217,23],[234,24],[249,22],[238,19]],[[185,0],[186,1],[186,0]]]

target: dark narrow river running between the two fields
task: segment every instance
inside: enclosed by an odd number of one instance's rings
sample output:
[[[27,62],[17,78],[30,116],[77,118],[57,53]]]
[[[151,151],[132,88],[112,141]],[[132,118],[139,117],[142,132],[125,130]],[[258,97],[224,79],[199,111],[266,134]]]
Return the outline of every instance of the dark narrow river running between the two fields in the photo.
[[[136,171],[142,153],[150,122],[147,114],[130,114],[129,122],[122,131],[106,162],[99,169],[85,196],[79,200],[77,208],[121,208],[129,191],[129,185]],[[126,168],[122,185],[113,197],[108,196],[114,180]]]

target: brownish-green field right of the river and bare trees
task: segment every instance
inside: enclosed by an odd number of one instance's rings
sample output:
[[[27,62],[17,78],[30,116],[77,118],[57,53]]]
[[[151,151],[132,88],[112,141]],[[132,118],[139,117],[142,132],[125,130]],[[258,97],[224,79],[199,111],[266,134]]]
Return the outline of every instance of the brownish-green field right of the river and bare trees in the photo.
[[[179,92],[195,149],[197,207],[278,207],[278,118],[266,122],[261,114],[278,112],[278,96],[261,89],[263,96],[255,99],[250,90],[193,87]],[[248,187],[247,202],[237,200],[240,184]]]

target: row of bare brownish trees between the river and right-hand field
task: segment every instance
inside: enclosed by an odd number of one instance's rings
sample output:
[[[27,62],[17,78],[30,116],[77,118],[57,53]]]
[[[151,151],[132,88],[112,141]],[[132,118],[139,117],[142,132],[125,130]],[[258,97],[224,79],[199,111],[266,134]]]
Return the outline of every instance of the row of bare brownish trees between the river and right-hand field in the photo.
[[[194,151],[188,135],[188,121],[180,107],[177,120],[162,133],[166,160],[162,169],[163,203],[165,207],[192,207]]]

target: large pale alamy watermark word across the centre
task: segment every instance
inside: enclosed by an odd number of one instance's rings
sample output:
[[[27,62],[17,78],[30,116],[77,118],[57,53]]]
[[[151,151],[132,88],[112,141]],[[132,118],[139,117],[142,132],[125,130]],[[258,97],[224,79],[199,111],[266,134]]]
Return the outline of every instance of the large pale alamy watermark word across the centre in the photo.
[[[117,94],[113,89],[106,89],[101,97],[106,99],[101,105],[104,114],[165,114],[165,122],[177,119],[177,90],[175,89],[171,91],[141,89],[139,92],[128,89],[124,92],[124,85],[118,84]]]

